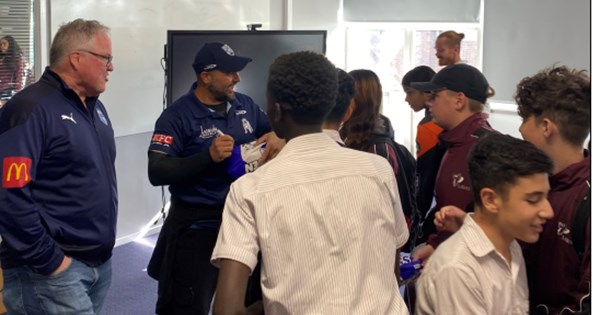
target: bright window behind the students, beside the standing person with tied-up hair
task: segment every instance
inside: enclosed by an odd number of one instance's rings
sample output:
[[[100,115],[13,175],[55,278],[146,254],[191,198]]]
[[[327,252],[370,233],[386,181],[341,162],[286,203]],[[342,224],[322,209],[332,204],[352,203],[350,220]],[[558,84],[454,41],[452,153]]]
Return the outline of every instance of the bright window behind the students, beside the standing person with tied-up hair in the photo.
[[[435,57],[435,40],[446,30],[464,33],[461,58],[481,68],[479,23],[347,23],[346,70],[370,69],[383,86],[383,114],[390,118],[399,143],[415,150],[416,126],[424,112],[414,113],[404,101],[402,77],[419,65],[441,69]]]

